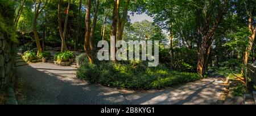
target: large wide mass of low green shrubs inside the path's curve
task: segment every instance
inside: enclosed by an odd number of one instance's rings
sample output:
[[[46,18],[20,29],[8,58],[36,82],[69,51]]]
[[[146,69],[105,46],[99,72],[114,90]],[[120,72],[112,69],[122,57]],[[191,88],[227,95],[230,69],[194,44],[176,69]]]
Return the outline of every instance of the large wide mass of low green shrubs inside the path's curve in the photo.
[[[147,67],[146,61],[84,63],[77,77],[93,84],[128,89],[160,89],[200,79],[196,73],[171,71],[165,65]]]

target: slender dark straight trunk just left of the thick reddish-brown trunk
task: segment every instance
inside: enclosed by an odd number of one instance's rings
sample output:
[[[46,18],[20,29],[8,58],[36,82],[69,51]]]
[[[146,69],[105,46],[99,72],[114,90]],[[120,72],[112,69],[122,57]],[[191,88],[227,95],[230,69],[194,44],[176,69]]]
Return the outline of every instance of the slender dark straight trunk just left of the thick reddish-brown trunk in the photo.
[[[79,0],[79,13],[77,14],[77,26],[76,26],[76,43],[75,43],[75,51],[78,50],[79,47],[79,30],[80,30],[80,13],[81,13],[81,7],[82,7],[82,0]]]

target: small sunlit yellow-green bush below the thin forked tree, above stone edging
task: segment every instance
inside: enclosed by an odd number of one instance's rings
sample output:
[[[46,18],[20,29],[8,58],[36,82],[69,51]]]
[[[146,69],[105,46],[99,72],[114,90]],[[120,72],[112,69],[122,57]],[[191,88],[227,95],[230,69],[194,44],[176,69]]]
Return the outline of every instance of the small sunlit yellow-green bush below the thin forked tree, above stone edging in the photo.
[[[71,51],[65,51],[62,53],[56,53],[54,55],[55,61],[69,61],[69,59],[73,59],[74,55]]]

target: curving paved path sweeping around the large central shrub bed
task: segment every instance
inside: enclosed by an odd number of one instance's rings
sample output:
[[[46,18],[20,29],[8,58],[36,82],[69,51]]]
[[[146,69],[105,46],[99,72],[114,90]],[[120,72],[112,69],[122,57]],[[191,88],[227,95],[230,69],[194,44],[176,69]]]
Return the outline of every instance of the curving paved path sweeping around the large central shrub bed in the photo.
[[[91,85],[76,77],[76,69],[51,63],[16,68],[22,82],[19,104],[211,104],[220,100],[222,78],[206,78],[165,90],[128,91]]]

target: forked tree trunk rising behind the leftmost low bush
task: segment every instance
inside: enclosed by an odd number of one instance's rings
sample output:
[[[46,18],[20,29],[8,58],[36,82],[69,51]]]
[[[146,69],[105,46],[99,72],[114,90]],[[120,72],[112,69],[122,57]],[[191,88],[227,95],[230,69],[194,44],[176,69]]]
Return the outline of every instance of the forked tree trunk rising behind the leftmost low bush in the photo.
[[[32,30],[34,32],[34,36],[35,36],[35,40],[36,40],[36,47],[38,48],[37,55],[39,55],[39,53],[42,52],[42,47],[40,45],[38,31],[36,29],[36,26],[38,24],[37,19],[38,19],[39,14],[46,7],[47,3],[48,3],[48,0],[45,0],[44,2],[42,2],[42,0],[36,0],[35,1],[35,14],[34,14],[34,19],[33,19],[33,23],[32,23]],[[43,6],[42,6],[42,4],[43,4]]]

